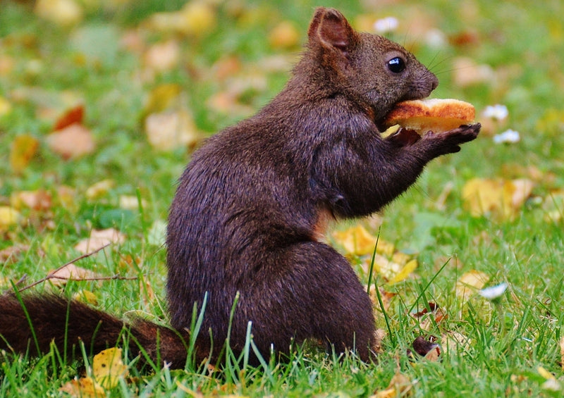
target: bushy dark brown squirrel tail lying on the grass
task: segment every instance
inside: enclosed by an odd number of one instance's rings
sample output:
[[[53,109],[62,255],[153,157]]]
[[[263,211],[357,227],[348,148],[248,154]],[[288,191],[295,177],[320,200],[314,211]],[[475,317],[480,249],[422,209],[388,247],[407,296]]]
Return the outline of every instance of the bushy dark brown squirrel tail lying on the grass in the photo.
[[[148,321],[123,321],[79,301],[54,294],[0,296],[0,349],[31,355],[49,352],[51,342],[67,356],[80,342],[89,354],[127,342],[129,352],[142,352],[157,366],[164,362],[183,368],[188,355],[190,334]],[[125,333],[124,333],[125,331]],[[125,337],[125,338],[123,338]],[[197,363],[207,358],[209,343],[195,343]],[[38,353],[39,352],[39,353]],[[80,352],[78,352],[80,355]]]

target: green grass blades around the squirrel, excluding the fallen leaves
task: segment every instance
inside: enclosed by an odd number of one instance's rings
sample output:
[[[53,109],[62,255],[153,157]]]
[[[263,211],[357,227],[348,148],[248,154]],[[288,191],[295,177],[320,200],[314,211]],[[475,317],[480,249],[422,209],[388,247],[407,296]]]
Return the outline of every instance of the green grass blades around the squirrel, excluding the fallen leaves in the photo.
[[[171,11],[182,2],[166,4]],[[0,265],[4,289],[10,288],[8,280],[19,280],[23,275],[27,275],[26,282],[43,278],[49,270],[78,256],[74,245],[93,227],[116,225],[128,239],[79,265],[102,275],[138,276],[142,282],[72,282],[64,288],[65,294],[92,290],[100,309],[120,316],[142,311],[166,320],[164,247],[149,239],[149,230],[155,221],[166,220],[175,181],[189,155],[182,148],[156,151],[147,143],[142,127],[145,99],[154,87],[175,83],[183,87],[183,105],[190,108],[200,130],[212,134],[234,123],[243,115],[221,114],[207,106],[206,99],[225,87],[204,72],[224,54],[238,56],[243,69],[258,69],[266,87],[250,89],[242,98],[245,106],[256,110],[288,77],[283,70],[261,72],[257,66],[263,65],[267,56],[293,56],[299,51],[273,49],[266,33],[288,19],[303,39],[314,6],[306,0],[238,4],[253,18],[235,18],[238,11],[234,6],[222,4],[216,29],[180,42],[178,68],[140,80],[142,56],[125,51],[118,42],[123,32],[142,25],[149,15],[167,11],[160,1],[90,7],[72,29],[45,23],[25,2],[3,2],[0,57],[9,56],[14,66],[9,73],[0,72],[0,97],[12,104],[12,111],[0,116],[0,204],[8,204],[9,198],[21,191],[45,189],[54,197],[47,211],[23,209],[28,222],[2,230],[5,239],[0,241],[0,249],[27,248],[13,262]],[[369,6],[353,3],[327,1],[325,5],[338,6],[353,20],[369,13]],[[547,210],[541,204],[564,188],[563,11],[557,0],[535,7],[527,1],[482,0],[434,0],[424,6],[404,1],[376,7],[377,15],[395,15],[407,25],[407,34],[402,30],[393,38],[412,49],[439,76],[436,97],[465,99],[477,109],[505,104],[510,113],[507,127],[518,130],[522,137],[519,144],[503,146],[482,135],[465,145],[460,154],[434,161],[417,185],[384,212],[381,237],[404,251],[417,249],[419,268],[413,278],[398,285],[384,285],[376,279],[378,285],[396,294],[386,310],[391,334],[383,342],[378,364],[367,365],[353,358],[335,361],[332,356],[305,349],[298,350],[287,364],[270,362],[256,369],[231,366],[221,374],[191,367],[185,371],[155,368],[130,383],[121,383],[109,394],[366,397],[386,388],[399,370],[412,380],[411,391],[416,397],[559,396],[560,392],[544,385],[546,380],[537,369],[541,366],[552,372],[558,383],[563,380],[558,343],[564,308],[564,228],[562,220],[545,220]],[[448,37],[470,39],[436,49],[418,36],[420,25],[425,23]],[[147,41],[158,43],[169,38],[150,32]],[[496,70],[496,77],[470,87],[455,85],[452,61],[460,56],[488,64]],[[23,172],[13,173],[8,156],[15,137],[27,133],[43,142],[53,116],[42,112],[61,113],[68,107],[68,98],[85,104],[85,125],[97,140],[96,151],[63,161],[42,144]],[[473,218],[465,211],[460,192],[467,180],[525,177],[532,166],[541,178],[534,198],[520,208],[514,220],[489,215]],[[102,197],[88,199],[87,187],[106,178],[115,181],[114,187]],[[453,192],[445,209],[439,211],[436,198],[448,182],[453,183]],[[75,189],[70,206],[57,199],[61,185]],[[124,212],[119,206],[124,194],[143,199],[143,211]],[[494,311],[495,307],[480,297],[460,303],[455,281],[468,270],[489,275],[489,285],[508,282],[498,307],[501,311]],[[38,291],[45,289],[49,289],[47,284],[37,287]],[[419,311],[429,301],[446,311],[446,320],[426,331],[407,314]],[[379,326],[386,328],[379,309],[376,314]],[[466,344],[449,349],[439,362],[410,361],[406,352],[415,337],[444,336],[446,332],[460,333]],[[59,387],[74,378],[81,366],[78,362],[61,366],[55,352],[30,361],[8,354],[0,361],[0,396],[60,394]]]

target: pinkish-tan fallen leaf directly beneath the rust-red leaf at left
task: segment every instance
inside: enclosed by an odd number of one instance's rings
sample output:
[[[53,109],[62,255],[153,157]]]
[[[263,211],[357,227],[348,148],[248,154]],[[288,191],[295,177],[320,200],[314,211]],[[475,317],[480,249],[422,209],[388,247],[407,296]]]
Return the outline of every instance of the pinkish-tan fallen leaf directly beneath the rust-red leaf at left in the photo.
[[[95,148],[92,132],[76,123],[52,132],[47,136],[46,142],[51,151],[66,160],[91,154]]]

